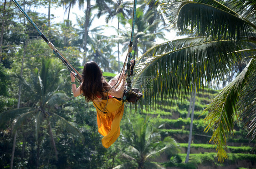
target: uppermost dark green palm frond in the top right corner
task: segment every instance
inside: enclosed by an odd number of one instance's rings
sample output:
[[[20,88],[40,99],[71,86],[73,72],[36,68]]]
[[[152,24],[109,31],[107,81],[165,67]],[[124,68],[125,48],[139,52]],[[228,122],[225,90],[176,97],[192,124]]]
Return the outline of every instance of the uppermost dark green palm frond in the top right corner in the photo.
[[[240,40],[254,36],[256,29],[256,25],[215,0],[177,0],[163,4],[163,10],[181,33],[189,27],[195,35]]]

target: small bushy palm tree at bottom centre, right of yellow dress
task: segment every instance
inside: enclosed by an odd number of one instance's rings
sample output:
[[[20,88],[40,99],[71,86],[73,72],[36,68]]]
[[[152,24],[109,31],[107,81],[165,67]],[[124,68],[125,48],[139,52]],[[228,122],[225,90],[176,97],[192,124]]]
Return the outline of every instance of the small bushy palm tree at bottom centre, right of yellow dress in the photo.
[[[114,169],[131,168],[136,162],[137,169],[160,169],[161,166],[152,162],[154,157],[160,153],[172,149],[172,153],[178,153],[179,149],[174,139],[166,137],[161,141],[161,136],[158,129],[150,124],[150,118],[136,118],[133,120],[132,132],[128,132],[126,139],[128,140],[129,147],[127,152],[123,154],[123,158],[129,162],[120,164]]]

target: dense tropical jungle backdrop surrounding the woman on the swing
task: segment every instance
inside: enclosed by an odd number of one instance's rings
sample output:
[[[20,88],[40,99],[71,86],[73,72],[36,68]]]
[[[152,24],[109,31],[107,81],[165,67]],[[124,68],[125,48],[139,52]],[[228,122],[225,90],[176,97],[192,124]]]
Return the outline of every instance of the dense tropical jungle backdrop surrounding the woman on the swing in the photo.
[[[79,72],[90,60],[107,80],[121,70],[133,1],[18,3]],[[0,168],[256,168],[255,9],[252,0],[138,0],[133,87],[143,98],[124,103],[121,134],[105,149],[92,102],[73,97],[67,67],[1,0]]]

